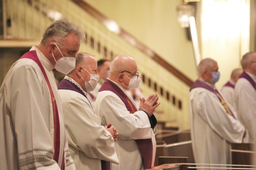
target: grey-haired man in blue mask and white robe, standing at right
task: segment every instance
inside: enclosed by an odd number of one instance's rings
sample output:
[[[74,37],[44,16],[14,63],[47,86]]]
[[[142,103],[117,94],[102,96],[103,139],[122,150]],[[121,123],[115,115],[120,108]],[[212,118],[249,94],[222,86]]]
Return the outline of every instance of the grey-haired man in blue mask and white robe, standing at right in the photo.
[[[215,88],[220,76],[217,62],[205,58],[197,70],[199,79],[190,89],[190,126],[195,162],[231,164],[230,143],[241,143],[245,128],[238,121],[233,107]]]

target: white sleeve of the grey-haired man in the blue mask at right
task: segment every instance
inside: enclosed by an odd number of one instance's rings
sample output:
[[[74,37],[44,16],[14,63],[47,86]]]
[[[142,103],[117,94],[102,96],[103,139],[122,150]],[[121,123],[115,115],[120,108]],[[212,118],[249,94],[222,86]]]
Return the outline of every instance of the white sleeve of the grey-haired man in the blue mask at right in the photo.
[[[243,125],[232,116],[230,116],[215,94],[208,91],[201,91],[195,95],[193,108],[201,118],[219,136],[229,142],[241,142],[244,133]]]

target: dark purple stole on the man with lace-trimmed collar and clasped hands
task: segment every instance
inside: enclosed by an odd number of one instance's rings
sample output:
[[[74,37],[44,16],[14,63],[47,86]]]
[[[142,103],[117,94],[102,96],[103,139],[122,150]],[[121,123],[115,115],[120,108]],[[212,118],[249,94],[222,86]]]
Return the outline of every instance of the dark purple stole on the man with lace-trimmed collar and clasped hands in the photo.
[[[79,94],[86,97],[84,92],[77,85],[75,85],[74,83],[72,83],[71,81],[69,81],[67,79],[61,80],[61,82],[58,85],[58,89],[72,90],[72,91],[78,92]],[[87,97],[86,97],[86,99],[87,99]],[[90,103],[90,101],[89,101],[89,103]],[[91,108],[93,108],[93,107],[91,107]],[[101,160],[101,169],[102,170],[110,170],[110,162]]]

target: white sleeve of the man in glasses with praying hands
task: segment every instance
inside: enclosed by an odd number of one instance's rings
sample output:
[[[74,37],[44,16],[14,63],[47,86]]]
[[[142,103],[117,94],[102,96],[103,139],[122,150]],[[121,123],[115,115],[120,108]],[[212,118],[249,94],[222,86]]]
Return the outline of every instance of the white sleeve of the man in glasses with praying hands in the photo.
[[[123,101],[113,92],[99,92],[96,99],[96,114],[102,119],[102,125],[112,123],[123,140],[151,138],[151,125],[148,116],[143,111],[133,114],[127,110]],[[98,101],[97,101],[98,100]]]

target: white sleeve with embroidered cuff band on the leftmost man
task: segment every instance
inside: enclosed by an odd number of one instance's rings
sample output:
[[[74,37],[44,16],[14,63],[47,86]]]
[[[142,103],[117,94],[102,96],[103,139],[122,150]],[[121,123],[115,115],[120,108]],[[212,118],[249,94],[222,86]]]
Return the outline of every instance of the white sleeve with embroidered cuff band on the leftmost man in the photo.
[[[53,159],[54,145],[49,133],[48,87],[34,63],[13,68],[7,103],[17,139],[20,169],[60,169]],[[9,98],[10,97],[10,98]]]

